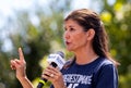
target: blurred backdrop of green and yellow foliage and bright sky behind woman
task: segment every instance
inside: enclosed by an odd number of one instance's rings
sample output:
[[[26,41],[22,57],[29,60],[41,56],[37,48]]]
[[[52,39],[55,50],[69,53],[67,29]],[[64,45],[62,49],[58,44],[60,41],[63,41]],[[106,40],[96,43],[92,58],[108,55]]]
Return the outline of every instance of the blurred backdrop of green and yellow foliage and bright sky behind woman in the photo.
[[[22,47],[26,73],[37,85],[49,53],[63,51],[63,18],[75,9],[96,11],[110,38],[110,53],[120,62],[119,88],[131,88],[131,0],[0,0],[0,88],[22,88],[10,68]],[[45,88],[49,88],[48,83]]]

